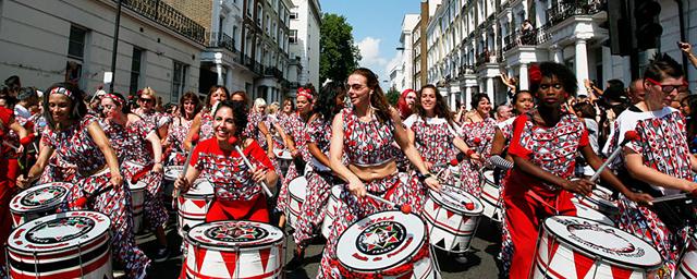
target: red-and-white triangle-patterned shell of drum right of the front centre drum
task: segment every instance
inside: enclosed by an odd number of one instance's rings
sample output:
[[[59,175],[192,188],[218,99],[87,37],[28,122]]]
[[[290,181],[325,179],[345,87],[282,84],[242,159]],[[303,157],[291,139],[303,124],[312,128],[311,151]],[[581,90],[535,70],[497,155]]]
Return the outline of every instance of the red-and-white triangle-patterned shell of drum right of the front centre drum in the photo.
[[[479,203],[472,197],[473,202]],[[455,211],[429,194],[424,204],[424,219],[428,228],[431,245],[452,253],[465,253],[469,250],[472,238],[477,230],[477,223],[482,213],[482,205],[476,206],[477,211],[464,214]]]

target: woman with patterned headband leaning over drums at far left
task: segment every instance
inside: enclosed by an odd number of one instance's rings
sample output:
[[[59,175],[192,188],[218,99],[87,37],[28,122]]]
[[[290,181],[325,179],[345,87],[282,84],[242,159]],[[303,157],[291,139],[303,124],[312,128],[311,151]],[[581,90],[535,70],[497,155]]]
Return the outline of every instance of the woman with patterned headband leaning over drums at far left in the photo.
[[[70,83],[58,83],[46,93],[44,113],[49,126],[41,136],[44,146],[36,163],[19,182],[28,186],[36,181],[53,153],[74,163],[77,170],[75,186],[66,198],[71,209],[78,209],[80,204],[75,202],[87,197],[88,207],[109,216],[113,257],[124,266],[129,278],[143,278],[150,259],[135,244],[131,192],[123,185],[117,154],[97,118],[87,114],[80,88]],[[107,192],[95,196],[100,191]]]

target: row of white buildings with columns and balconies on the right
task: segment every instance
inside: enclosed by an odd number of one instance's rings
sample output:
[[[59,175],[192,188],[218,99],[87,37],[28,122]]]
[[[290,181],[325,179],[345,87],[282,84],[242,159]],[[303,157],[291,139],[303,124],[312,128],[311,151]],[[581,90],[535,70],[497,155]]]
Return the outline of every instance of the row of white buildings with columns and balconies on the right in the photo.
[[[602,1],[440,2],[427,24],[427,80],[438,85],[451,108],[468,104],[475,93],[486,93],[497,105],[508,101],[508,88],[499,74],[516,77],[518,87],[527,89],[529,65],[542,61],[566,64],[576,73],[582,90],[586,78],[598,85],[612,78],[631,82],[629,58],[613,56],[606,46],[608,31],[600,26],[608,14]],[[678,5],[676,1],[659,1],[663,34],[658,49],[639,53],[640,66],[656,51],[683,61],[675,41],[697,41],[697,21],[690,20],[690,14],[697,14],[697,4],[682,2]],[[524,27],[526,20],[530,26]],[[695,86],[697,71],[693,66],[686,69],[688,81]]]

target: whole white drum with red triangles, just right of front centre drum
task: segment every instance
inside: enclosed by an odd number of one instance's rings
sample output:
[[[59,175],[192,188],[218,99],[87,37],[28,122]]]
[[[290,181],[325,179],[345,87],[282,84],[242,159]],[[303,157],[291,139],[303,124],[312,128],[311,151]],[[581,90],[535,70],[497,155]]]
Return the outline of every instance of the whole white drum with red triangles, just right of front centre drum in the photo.
[[[452,253],[467,252],[484,206],[468,193],[449,186],[441,192],[429,191],[424,204],[430,244]]]

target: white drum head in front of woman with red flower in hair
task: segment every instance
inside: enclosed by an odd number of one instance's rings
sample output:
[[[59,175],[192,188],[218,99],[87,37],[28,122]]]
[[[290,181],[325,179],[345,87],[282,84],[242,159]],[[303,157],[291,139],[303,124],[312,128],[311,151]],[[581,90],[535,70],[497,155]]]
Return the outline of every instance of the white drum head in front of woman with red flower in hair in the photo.
[[[554,216],[545,220],[545,230],[575,248],[629,267],[653,269],[661,255],[644,240],[617,228],[579,217]]]

